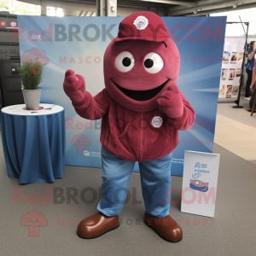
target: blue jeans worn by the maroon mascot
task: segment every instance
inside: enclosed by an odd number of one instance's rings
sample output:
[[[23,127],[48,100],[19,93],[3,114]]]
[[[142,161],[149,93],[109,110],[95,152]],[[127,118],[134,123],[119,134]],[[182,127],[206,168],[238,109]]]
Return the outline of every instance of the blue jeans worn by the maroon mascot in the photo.
[[[122,212],[135,162],[122,160],[102,146],[102,198],[98,211],[107,216]],[[143,200],[149,215],[169,214],[172,153],[157,160],[139,163]]]

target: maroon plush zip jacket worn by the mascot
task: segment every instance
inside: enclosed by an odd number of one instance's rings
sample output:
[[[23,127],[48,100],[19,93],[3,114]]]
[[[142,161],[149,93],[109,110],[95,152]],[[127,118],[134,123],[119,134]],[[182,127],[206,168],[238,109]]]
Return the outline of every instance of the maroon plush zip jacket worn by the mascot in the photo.
[[[179,91],[180,92],[180,91]],[[120,106],[108,95],[106,89],[92,97],[85,93],[84,104],[73,103],[76,112],[84,119],[101,119],[101,143],[112,154],[131,161],[155,160],[170,154],[178,143],[178,130],[188,130],[193,125],[195,111],[180,92],[183,115],[169,118],[159,108],[135,112]],[[162,118],[160,128],[151,122]]]

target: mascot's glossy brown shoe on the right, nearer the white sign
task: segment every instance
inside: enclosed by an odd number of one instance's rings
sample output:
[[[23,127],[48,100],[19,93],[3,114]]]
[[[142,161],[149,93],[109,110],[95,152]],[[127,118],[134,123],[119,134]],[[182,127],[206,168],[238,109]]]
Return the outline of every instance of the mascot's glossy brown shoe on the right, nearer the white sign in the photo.
[[[170,215],[156,218],[145,212],[144,222],[166,241],[177,242],[183,239],[182,228]]]

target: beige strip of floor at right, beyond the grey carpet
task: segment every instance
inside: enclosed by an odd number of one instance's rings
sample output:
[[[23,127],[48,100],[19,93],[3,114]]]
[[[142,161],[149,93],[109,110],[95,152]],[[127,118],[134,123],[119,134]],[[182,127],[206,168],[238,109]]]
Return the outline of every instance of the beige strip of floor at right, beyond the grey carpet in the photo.
[[[256,165],[256,125],[217,114],[214,143]]]

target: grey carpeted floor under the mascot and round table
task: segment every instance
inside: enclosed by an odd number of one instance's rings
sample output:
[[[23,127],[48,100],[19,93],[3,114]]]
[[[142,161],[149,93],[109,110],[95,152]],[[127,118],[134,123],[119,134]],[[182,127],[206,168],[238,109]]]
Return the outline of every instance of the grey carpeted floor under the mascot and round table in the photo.
[[[0,255],[253,256],[256,252],[255,166],[216,144],[214,153],[221,155],[215,218],[183,213],[180,203],[172,205],[170,214],[180,220],[183,227],[183,241],[173,244],[162,240],[143,224],[138,173],[131,177],[131,197],[119,216],[122,222],[119,229],[94,240],[83,240],[76,235],[77,221],[96,212],[101,170],[67,166],[64,177],[55,183],[20,185],[17,178],[7,176],[1,147]],[[172,177],[172,187],[179,189],[172,193],[172,199],[179,200],[182,177]],[[26,198],[29,194],[39,197],[47,193],[47,188],[51,194],[49,204]],[[22,203],[14,200],[14,195],[18,194],[15,191],[20,191],[21,195],[24,192]],[[76,203],[67,196],[70,191],[78,192]],[[85,191],[85,197],[81,198]],[[62,193],[62,201],[54,195],[57,192]],[[32,210],[44,214],[38,217],[41,225],[38,236],[28,236],[28,226],[22,220],[20,224],[23,215]],[[47,219],[47,224],[43,218]]]

